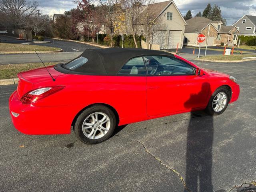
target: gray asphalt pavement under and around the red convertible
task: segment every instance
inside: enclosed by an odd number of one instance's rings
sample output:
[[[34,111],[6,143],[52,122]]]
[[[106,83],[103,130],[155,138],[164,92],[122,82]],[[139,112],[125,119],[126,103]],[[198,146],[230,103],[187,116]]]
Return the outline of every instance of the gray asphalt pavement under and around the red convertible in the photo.
[[[0,86],[0,191],[186,192],[186,184],[193,192],[229,192],[256,181],[255,61],[196,64],[236,77],[239,100],[220,116],[193,112],[122,126],[97,145],[73,132],[18,132],[8,112],[16,85]]]

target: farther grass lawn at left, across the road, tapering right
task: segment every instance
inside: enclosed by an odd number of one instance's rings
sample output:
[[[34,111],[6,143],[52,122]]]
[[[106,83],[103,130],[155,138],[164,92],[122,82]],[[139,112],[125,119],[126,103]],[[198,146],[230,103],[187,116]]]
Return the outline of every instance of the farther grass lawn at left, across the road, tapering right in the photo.
[[[13,44],[0,43],[0,51],[57,51],[60,48],[30,45],[30,44]]]

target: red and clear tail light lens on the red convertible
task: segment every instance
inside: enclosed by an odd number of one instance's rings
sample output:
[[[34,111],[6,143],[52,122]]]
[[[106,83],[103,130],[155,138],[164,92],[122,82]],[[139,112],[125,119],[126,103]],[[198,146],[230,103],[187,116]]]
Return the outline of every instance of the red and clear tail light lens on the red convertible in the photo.
[[[33,102],[36,102],[37,100],[40,100],[42,98],[45,98],[51,94],[54,94],[60,90],[62,90],[64,86],[51,86],[51,87],[44,87],[36,90],[32,90],[28,93],[26,93],[20,101],[23,104],[30,104]]]

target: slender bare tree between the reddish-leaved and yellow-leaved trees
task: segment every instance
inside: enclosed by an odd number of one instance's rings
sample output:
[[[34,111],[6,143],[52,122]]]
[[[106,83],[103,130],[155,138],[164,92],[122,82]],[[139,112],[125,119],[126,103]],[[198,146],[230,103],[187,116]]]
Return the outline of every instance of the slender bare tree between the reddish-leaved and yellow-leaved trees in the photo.
[[[113,44],[115,23],[118,20],[118,13],[121,12],[120,0],[97,0],[100,4],[99,11],[102,16],[104,26],[110,33],[110,46]]]

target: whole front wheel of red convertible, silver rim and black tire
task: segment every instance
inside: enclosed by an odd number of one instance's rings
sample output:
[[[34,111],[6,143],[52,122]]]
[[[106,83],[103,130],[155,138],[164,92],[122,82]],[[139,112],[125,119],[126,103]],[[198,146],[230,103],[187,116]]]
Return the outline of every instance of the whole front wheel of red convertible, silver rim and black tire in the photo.
[[[228,107],[229,94],[226,88],[218,88],[214,94],[212,94],[206,112],[211,115],[220,115]]]

